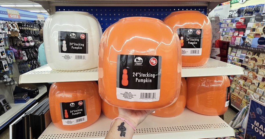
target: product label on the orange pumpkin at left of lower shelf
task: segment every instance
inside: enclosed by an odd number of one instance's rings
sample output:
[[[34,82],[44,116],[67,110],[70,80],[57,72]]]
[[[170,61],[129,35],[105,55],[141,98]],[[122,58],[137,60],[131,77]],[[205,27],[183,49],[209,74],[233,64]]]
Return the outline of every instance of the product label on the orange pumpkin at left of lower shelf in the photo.
[[[61,102],[60,108],[63,125],[74,125],[87,121],[85,100]]]

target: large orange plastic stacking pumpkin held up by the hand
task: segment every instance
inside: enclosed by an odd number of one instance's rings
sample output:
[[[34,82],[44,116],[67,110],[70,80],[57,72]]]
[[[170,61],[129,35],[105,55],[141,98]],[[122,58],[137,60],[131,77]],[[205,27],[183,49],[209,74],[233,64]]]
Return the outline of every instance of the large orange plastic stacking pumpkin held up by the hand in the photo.
[[[99,48],[99,93],[116,107],[148,110],[174,103],[181,82],[180,41],[159,19],[128,17],[109,26]]]

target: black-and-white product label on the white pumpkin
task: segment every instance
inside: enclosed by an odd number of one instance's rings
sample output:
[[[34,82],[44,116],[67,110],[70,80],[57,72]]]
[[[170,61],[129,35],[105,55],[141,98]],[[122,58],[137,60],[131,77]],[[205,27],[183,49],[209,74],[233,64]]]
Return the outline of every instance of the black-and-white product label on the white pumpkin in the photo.
[[[88,34],[59,31],[59,58],[64,61],[88,61]]]

